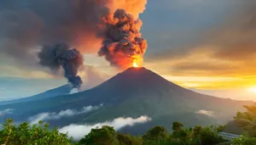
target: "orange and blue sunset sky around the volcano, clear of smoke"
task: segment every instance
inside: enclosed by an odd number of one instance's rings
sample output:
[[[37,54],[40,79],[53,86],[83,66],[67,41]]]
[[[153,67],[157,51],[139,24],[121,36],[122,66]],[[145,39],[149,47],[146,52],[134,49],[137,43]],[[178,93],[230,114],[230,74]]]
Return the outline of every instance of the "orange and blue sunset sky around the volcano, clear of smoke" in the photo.
[[[255,7],[253,0],[148,0],[140,14],[148,41],[143,66],[196,92],[256,101],[256,93],[249,91],[256,88]],[[0,20],[1,10],[0,2]],[[100,46],[92,42],[90,47]],[[0,34],[1,51],[3,43]],[[96,51],[84,53],[84,64],[86,71],[80,72],[84,89],[119,72]],[[0,100],[26,97],[66,82],[47,72],[0,54]]]

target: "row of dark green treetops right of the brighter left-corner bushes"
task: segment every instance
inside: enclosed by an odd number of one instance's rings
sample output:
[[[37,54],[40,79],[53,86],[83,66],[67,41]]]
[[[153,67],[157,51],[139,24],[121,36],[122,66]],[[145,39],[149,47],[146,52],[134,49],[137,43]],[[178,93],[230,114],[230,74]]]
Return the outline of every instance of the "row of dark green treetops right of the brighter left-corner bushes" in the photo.
[[[213,145],[226,142],[218,136],[213,126],[183,129],[179,122],[173,123],[175,131],[168,132],[163,126],[154,126],[143,137],[132,137],[116,133],[113,127],[103,126],[102,129],[92,129],[79,144],[86,145]],[[219,128],[223,128],[220,126]]]

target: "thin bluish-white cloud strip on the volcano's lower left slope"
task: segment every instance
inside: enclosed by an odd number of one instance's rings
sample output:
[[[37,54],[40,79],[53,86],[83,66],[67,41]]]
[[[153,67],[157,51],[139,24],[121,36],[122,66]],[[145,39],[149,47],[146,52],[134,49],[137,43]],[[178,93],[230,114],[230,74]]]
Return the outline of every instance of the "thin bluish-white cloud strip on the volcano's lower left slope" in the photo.
[[[66,109],[66,110],[61,110],[59,113],[55,112],[44,112],[41,114],[36,114],[32,117],[30,117],[28,120],[32,124],[38,123],[39,120],[59,120],[61,117],[68,117],[68,116],[73,116],[77,114],[86,114],[90,111],[99,109],[103,106],[103,104],[98,105],[98,106],[86,106],[80,110],[77,109]]]

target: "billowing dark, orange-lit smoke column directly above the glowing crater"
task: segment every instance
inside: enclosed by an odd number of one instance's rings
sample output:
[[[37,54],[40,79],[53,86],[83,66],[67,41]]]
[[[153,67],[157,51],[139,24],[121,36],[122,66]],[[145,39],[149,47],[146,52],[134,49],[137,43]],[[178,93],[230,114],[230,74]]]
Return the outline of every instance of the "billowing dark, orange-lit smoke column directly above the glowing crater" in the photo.
[[[134,62],[140,64],[147,49],[147,41],[139,32],[142,24],[124,9],[117,9],[113,18],[106,20],[104,40],[98,54],[110,64],[124,69]]]

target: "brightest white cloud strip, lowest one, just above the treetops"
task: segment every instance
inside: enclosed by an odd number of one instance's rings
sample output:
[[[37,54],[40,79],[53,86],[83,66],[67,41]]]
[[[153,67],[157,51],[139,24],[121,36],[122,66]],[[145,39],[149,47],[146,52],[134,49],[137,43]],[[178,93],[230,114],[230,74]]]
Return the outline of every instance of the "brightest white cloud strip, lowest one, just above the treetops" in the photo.
[[[126,125],[135,125],[137,123],[145,123],[151,120],[148,116],[141,116],[137,119],[133,119],[131,117],[129,118],[123,118],[119,117],[117,119],[114,119],[112,121],[105,121],[102,123],[97,123],[95,125],[76,125],[76,124],[71,124],[62,127],[59,129],[60,132],[62,133],[67,133],[69,137],[73,137],[75,140],[79,140],[80,138],[84,137],[84,135],[87,135],[90,133],[91,129],[94,129],[96,127],[102,127],[102,125],[109,125],[113,126],[113,128],[116,131],[119,131],[121,128],[125,127]]]

